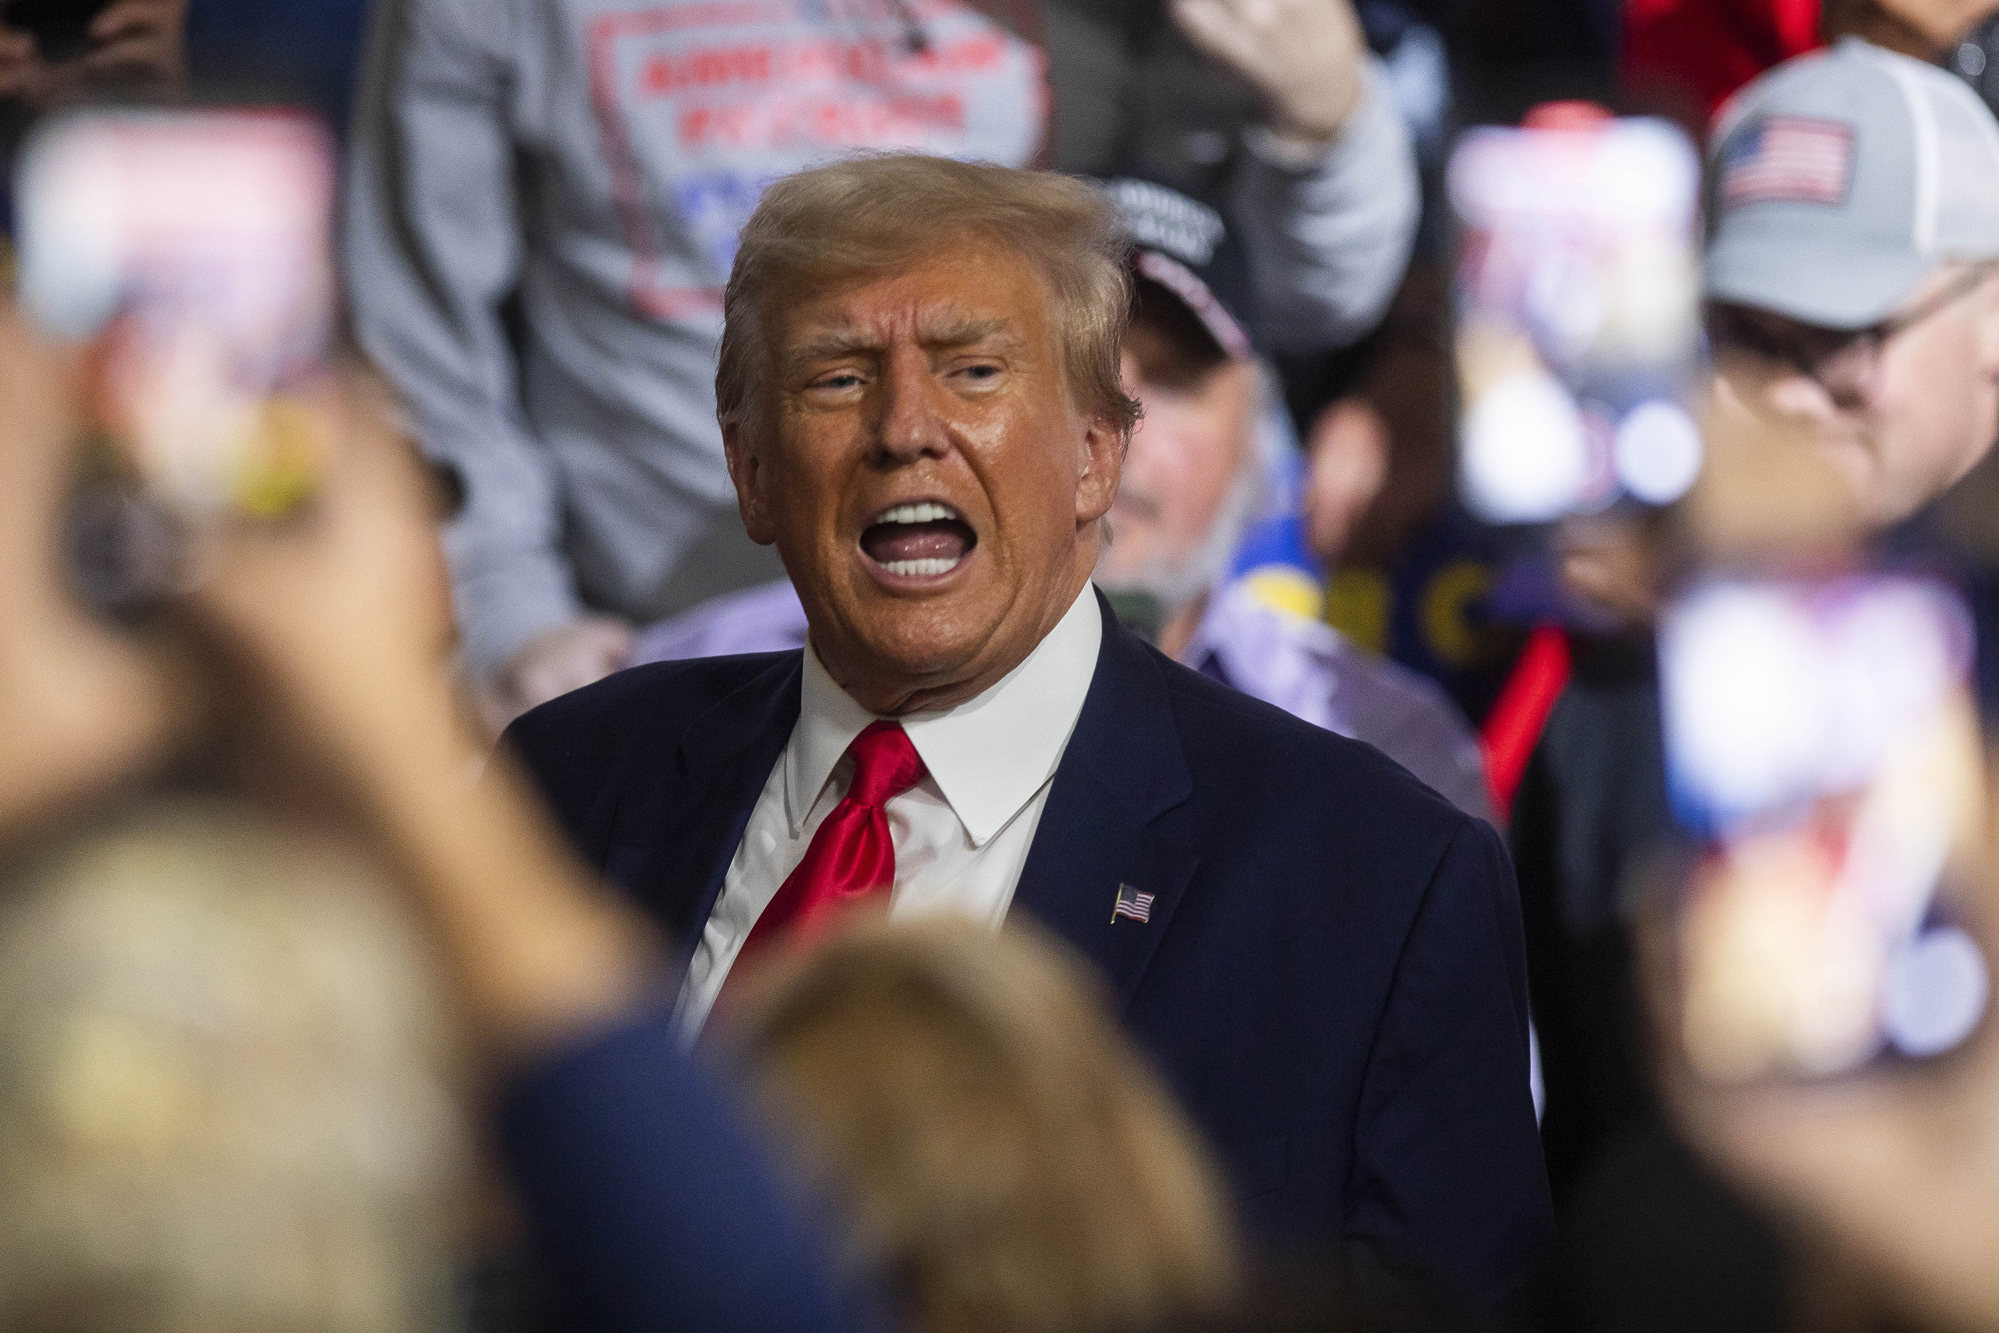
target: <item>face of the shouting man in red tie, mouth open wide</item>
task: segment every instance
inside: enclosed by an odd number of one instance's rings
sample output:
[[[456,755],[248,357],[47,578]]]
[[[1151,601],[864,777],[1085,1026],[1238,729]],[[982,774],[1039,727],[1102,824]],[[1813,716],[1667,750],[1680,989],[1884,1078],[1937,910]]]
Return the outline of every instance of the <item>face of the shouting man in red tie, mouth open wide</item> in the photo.
[[[820,662],[876,713],[996,683],[1089,580],[1125,444],[1075,406],[1039,272],[944,244],[776,302],[764,346],[722,434]]]

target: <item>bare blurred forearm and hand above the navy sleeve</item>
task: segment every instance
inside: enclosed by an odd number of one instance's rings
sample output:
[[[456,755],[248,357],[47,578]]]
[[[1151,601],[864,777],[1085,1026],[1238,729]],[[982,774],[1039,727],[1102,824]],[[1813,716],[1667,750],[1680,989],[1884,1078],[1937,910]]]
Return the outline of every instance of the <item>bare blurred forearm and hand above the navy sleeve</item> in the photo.
[[[458,709],[436,506],[364,388],[318,404],[312,506],[202,534],[186,626],[230,703],[344,791],[424,909],[488,1055],[520,1059],[624,1013],[658,975],[636,913],[574,861],[506,755]]]

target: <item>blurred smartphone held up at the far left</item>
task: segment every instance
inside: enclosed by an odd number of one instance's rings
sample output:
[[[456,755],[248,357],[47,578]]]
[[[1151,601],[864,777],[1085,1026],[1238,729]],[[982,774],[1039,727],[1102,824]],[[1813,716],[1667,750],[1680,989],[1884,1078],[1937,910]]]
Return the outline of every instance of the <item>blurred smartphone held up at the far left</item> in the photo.
[[[84,348],[100,472],[200,526],[274,520],[324,458],[334,158],[286,110],[90,110],[18,180],[20,300]]]

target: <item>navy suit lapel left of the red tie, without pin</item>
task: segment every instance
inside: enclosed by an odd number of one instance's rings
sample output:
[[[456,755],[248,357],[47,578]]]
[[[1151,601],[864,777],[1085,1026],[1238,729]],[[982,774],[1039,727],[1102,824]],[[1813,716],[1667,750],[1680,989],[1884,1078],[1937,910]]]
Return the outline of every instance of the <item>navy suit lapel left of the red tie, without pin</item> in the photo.
[[[680,739],[668,779],[618,809],[608,873],[660,913],[682,967],[798,723],[802,662],[786,654],[700,713]]]

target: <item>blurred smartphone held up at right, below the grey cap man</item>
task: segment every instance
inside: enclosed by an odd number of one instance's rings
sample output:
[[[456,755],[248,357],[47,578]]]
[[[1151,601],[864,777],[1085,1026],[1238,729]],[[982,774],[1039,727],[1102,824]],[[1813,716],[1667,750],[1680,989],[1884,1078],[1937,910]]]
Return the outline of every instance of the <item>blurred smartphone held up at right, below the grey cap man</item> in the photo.
[[[1973,628],[1907,576],[1727,578],[1659,628],[1669,789],[1699,853],[1677,1027],[1717,1081],[1943,1055],[1985,1017]]]

